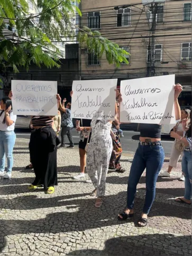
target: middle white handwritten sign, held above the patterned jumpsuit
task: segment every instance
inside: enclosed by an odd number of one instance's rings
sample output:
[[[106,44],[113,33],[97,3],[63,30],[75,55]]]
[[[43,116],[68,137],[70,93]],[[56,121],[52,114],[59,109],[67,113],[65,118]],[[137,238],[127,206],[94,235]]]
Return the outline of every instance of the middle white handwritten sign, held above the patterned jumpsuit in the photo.
[[[72,118],[114,120],[116,85],[117,79],[74,81]]]

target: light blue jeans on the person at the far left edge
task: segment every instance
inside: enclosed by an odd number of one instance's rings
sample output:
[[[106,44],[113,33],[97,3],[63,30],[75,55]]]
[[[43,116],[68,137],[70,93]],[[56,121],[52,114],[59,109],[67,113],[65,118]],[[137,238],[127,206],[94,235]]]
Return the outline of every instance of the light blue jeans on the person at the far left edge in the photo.
[[[5,155],[7,158],[7,172],[12,172],[15,139],[14,131],[0,131],[0,172],[5,171]]]

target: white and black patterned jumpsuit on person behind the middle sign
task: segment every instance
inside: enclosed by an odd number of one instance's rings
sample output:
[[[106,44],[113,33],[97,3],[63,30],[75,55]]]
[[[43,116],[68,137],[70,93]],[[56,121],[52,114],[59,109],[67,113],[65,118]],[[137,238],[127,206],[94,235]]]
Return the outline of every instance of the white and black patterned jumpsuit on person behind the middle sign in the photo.
[[[87,173],[97,189],[97,197],[105,196],[105,181],[112,154],[111,123],[107,119],[91,122],[92,137],[87,152]]]

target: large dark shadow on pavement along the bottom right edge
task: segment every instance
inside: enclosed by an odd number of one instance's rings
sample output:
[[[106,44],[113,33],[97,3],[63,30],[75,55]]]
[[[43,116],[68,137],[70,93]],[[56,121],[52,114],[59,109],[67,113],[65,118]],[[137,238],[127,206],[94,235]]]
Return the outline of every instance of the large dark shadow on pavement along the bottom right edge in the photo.
[[[67,255],[190,256],[191,253],[189,250],[191,250],[191,237],[189,235],[173,236],[170,234],[144,234],[109,239],[105,242],[104,250],[76,250]]]

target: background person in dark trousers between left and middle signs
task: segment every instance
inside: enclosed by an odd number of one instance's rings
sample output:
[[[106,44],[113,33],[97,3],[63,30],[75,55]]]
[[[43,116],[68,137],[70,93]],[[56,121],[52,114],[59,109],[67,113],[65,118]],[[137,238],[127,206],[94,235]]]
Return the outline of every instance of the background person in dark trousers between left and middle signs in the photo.
[[[61,119],[61,145],[59,148],[64,148],[65,147],[65,140],[66,140],[66,135],[69,139],[70,145],[67,148],[74,148],[74,140],[72,138],[71,130],[74,128],[74,125],[72,123],[72,118],[71,118],[71,103],[67,103],[66,108],[65,108],[65,102],[67,100],[63,100],[63,105],[61,104],[61,98],[59,102],[59,109],[63,112],[62,119]]]

